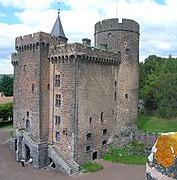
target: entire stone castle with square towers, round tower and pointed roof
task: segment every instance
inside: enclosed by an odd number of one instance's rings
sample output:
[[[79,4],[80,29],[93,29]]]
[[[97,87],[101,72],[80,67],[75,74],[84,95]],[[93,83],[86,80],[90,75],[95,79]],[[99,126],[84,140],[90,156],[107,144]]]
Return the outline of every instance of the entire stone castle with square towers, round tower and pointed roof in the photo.
[[[136,129],[139,25],[106,19],[95,24],[93,47],[67,40],[59,14],[50,34],[16,38],[13,143],[17,161],[71,175]]]

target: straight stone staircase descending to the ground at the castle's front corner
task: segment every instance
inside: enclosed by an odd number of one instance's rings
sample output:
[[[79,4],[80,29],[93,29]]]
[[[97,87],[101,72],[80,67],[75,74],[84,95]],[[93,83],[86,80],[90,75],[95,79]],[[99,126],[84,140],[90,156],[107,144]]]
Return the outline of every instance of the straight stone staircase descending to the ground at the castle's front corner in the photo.
[[[75,161],[66,159],[55,146],[49,145],[49,154],[53,155],[52,160],[57,166],[61,167],[59,170],[68,175],[76,175],[80,172],[80,166]]]

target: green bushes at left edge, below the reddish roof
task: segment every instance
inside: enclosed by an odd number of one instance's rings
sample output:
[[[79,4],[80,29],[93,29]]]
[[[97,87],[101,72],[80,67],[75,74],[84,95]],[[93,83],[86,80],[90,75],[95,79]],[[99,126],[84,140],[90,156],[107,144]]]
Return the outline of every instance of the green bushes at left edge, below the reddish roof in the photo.
[[[13,103],[8,102],[5,104],[0,104],[0,120],[7,121],[9,118],[12,119],[13,116]]]

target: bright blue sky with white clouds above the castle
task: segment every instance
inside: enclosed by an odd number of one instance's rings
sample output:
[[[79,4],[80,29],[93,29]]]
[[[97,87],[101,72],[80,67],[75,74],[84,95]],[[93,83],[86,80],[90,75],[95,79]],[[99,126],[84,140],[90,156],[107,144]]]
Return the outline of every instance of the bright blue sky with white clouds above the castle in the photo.
[[[0,74],[13,73],[15,37],[51,32],[57,18],[57,2],[0,0]],[[129,18],[140,24],[140,61],[149,55],[177,56],[177,0],[60,0],[60,9],[68,42],[90,38],[93,45],[96,22]]]

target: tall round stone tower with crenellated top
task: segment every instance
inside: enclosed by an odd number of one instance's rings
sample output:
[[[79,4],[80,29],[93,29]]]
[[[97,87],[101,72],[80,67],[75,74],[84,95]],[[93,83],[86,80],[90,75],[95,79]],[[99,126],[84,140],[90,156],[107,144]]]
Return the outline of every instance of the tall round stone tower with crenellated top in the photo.
[[[117,130],[135,127],[139,89],[139,24],[130,19],[107,19],[95,25],[95,46],[121,53],[115,73]]]

